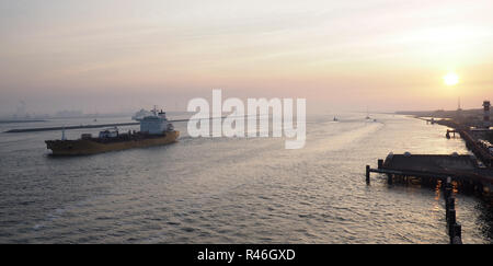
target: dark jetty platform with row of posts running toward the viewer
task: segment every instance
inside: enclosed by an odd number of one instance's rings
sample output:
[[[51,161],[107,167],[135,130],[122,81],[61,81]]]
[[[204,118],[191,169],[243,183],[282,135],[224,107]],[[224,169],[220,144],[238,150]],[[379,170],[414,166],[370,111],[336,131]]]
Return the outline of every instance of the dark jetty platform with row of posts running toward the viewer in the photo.
[[[446,221],[450,244],[461,244],[461,224],[456,220],[452,189],[468,190],[481,195],[493,192],[493,169],[481,167],[473,155],[454,154],[404,154],[389,153],[379,159],[377,169],[366,165],[366,182],[370,173],[387,175],[388,184],[414,183],[444,189]]]

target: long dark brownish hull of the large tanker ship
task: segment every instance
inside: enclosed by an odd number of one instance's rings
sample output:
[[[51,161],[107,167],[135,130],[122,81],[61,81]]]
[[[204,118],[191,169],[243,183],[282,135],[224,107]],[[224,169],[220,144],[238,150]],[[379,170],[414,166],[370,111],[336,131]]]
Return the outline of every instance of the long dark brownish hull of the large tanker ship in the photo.
[[[180,131],[167,132],[163,136],[149,138],[129,139],[124,141],[102,142],[91,139],[78,140],[46,140],[47,149],[53,155],[88,155],[108,151],[127,150],[134,148],[146,148],[175,142]]]

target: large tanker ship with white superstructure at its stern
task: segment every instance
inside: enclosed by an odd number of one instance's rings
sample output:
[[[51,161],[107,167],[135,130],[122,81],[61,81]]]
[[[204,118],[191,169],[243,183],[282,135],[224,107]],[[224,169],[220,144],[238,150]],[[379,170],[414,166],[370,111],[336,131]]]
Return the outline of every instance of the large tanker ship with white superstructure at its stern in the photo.
[[[107,151],[126,150],[131,148],[144,148],[151,146],[169,144],[180,136],[174,130],[162,109],[154,109],[151,114],[136,118],[140,123],[140,131],[119,132],[118,128],[108,128],[100,131],[98,137],[91,134],[82,134],[80,139],[68,140],[65,130],[61,139],[46,140],[47,149],[53,155],[87,155]]]

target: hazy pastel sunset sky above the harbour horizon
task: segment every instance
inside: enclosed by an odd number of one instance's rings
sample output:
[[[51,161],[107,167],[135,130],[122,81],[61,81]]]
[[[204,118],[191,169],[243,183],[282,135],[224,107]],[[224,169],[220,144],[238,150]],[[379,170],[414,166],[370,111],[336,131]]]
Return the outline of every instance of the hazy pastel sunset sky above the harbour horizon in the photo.
[[[491,0],[0,0],[0,114],[185,109],[211,89],[309,111],[493,100]]]

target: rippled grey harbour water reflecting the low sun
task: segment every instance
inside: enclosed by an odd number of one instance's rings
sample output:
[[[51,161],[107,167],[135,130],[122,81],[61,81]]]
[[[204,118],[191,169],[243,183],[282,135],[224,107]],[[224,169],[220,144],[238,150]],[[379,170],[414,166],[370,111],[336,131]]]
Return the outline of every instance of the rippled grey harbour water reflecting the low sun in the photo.
[[[390,151],[467,153],[462,141],[402,116],[332,117],[307,117],[300,150],[273,138],[190,138],[177,123],[171,146],[51,158],[44,140],[59,131],[0,134],[0,243],[448,243],[439,190],[378,175],[367,186],[364,172]],[[465,243],[492,242],[489,208],[458,195]]]

